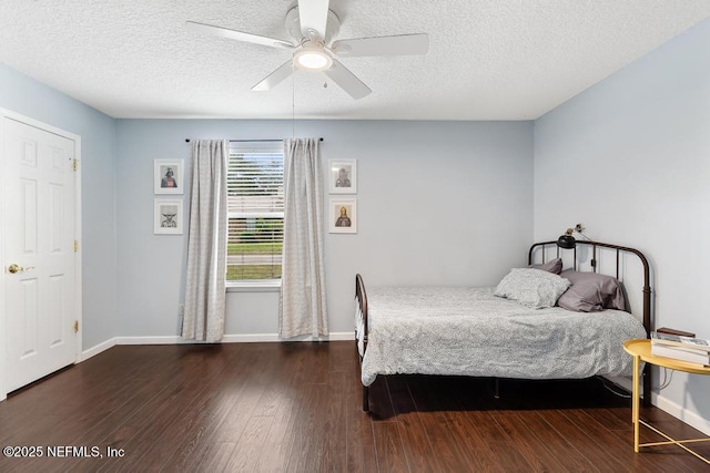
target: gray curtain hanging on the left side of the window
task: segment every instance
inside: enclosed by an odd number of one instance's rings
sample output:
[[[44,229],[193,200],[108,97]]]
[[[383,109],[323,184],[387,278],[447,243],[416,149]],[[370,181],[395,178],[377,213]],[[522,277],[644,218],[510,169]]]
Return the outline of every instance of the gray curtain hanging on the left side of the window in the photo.
[[[226,143],[192,143],[190,236],[182,338],[220,341],[226,275]]]

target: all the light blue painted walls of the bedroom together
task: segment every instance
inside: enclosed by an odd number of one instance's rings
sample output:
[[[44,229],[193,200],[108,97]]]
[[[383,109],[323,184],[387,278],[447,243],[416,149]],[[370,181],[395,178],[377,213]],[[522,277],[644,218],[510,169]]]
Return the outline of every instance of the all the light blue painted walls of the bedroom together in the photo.
[[[356,271],[371,284],[491,285],[524,263],[531,240],[580,222],[595,239],[650,257],[657,326],[710,338],[702,299],[708,50],[704,21],[534,130],[529,122],[297,122],[297,136],[325,138],[324,161],[358,160],[359,232],[326,241],[332,331],[352,330]],[[84,348],[115,336],[179,333],[185,238],[153,235],[153,160],[187,164],[185,137],[287,137],[293,126],[114,121],[2,64],[0,106],[82,136]],[[227,333],[274,332],[275,297],[231,295]],[[659,401],[708,431],[707,392],[710,379],[677,373]]]

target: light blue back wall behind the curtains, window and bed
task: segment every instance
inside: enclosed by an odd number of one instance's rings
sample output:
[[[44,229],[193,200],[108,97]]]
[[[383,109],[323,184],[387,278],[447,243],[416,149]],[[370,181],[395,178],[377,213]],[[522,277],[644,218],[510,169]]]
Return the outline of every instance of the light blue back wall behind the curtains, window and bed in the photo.
[[[120,336],[179,333],[185,236],[153,235],[153,160],[187,166],[186,137],[283,138],[293,126],[116,121]],[[373,285],[494,285],[526,263],[531,122],[298,121],[295,134],[324,138],[324,169],[357,160],[358,233],[326,237],[332,332],[353,331],[355,273]],[[277,331],[276,292],[230,294],[227,308],[227,335]]]

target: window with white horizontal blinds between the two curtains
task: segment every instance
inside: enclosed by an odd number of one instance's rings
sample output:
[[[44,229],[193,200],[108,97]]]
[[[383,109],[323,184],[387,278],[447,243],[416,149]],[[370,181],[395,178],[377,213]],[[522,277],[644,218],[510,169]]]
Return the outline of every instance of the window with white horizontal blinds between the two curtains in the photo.
[[[283,143],[231,142],[226,192],[226,280],[281,279]]]

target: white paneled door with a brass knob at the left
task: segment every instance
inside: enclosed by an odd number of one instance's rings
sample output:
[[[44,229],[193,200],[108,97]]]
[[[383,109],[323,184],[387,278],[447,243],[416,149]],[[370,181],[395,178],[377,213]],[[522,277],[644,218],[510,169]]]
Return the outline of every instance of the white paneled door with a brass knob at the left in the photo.
[[[75,362],[79,350],[77,143],[34,124],[0,124],[6,392]]]

